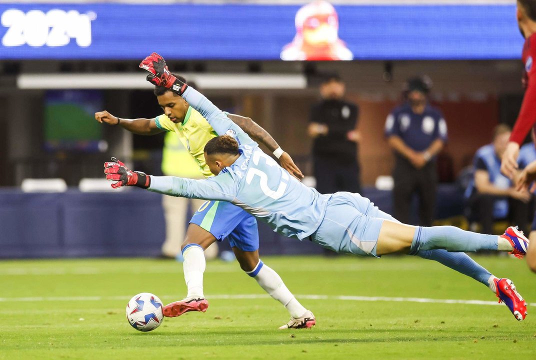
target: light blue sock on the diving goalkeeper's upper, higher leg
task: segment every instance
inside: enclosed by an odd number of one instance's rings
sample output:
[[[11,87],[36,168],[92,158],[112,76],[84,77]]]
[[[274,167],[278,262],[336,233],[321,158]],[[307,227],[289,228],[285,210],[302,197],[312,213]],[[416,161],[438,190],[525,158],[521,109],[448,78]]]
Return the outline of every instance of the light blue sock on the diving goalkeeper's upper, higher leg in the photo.
[[[410,255],[420,250],[445,249],[450,252],[497,251],[497,235],[478,234],[453,226],[418,226],[415,230]]]

